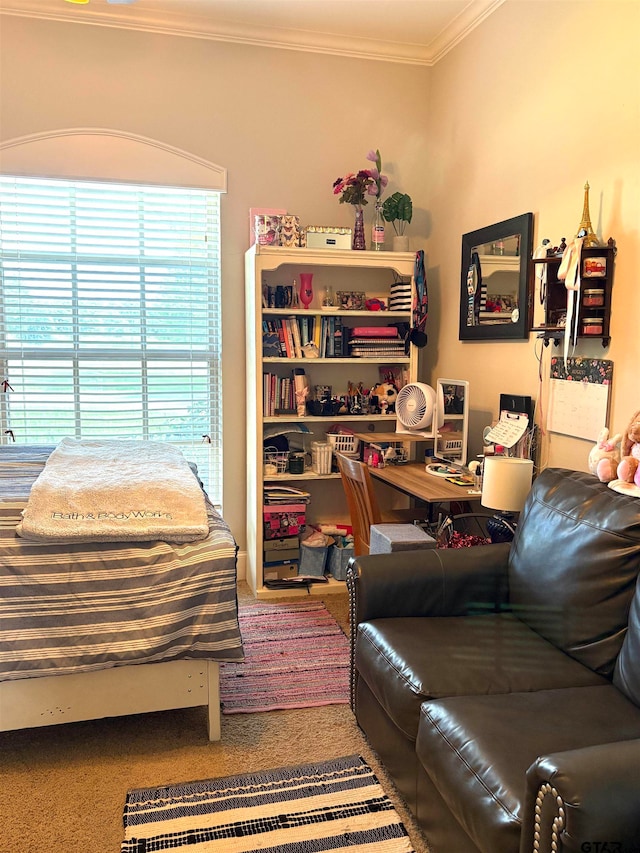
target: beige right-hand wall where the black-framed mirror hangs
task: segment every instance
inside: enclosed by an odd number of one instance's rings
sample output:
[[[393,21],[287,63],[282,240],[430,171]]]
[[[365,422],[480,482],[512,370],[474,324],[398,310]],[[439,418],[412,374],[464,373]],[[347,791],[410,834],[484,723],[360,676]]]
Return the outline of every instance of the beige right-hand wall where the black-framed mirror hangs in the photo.
[[[497,415],[501,391],[529,394],[544,423],[549,359],[521,342],[458,341],[460,235],[531,211],[534,245],[570,239],[589,181],[593,227],[618,246],[611,345],[576,355],[614,362],[610,422],[623,431],[640,408],[635,318],[640,311],[640,3],[507,0],[431,70],[428,375],[470,382],[471,452]],[[542,465],[586,470],[590,442],[548,434]]]

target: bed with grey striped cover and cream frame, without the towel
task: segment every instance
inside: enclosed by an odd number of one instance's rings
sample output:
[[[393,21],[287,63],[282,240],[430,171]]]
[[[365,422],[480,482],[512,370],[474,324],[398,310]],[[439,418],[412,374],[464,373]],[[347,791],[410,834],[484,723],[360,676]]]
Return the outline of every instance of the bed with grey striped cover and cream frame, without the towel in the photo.
[[[52,450],[0,447],[0,731],[206,705],[218,740],[219,665],[243,659],[228,525],[206,499],[194,542],[20,538]]]

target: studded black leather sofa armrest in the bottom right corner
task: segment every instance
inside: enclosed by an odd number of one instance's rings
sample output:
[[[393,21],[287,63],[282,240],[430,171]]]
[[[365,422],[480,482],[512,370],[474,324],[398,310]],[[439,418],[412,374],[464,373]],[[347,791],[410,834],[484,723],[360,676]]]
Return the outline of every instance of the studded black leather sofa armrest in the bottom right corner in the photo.
[[[640,739],[538,758],[527,771],[520,853],[534,839],[540,853],[640,853],[638,767]]]

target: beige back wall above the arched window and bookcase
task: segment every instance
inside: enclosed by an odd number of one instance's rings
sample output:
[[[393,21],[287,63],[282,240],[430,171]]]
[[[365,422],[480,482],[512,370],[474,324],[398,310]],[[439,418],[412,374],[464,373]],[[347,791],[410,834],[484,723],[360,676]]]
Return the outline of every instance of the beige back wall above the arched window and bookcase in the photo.
[[[426,231],[429,69],[0,16],[0,138],[106,127],[228,170],[222,202],[224,514],[245,543],[244,252],[250,207],[351,224],[331,185],[379,148]],[[0,167],[2,163],[0,162]],[[167,175],[171,183],[171,175]],[[355,377],[354,377],[355,378]]]

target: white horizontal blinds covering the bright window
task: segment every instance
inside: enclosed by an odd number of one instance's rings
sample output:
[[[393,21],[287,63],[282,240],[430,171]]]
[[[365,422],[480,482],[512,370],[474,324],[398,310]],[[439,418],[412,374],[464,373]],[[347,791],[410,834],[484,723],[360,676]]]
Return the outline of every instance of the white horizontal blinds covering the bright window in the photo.
[[[171,442],[220,503],[219,198],[0,177],[3,441]]]

